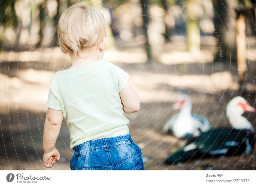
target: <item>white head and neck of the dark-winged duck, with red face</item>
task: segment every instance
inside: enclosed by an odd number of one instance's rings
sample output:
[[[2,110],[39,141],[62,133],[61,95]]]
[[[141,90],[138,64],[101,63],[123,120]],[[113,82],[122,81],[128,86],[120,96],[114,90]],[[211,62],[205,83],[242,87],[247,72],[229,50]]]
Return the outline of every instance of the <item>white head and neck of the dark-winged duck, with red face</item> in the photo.
[[[251,129],[250,123],[242,116],[244,112],[255,112],[256,109],[252,107],[243,97],[237,96],[228,102],[226,115],[230,124],[236,129]]]

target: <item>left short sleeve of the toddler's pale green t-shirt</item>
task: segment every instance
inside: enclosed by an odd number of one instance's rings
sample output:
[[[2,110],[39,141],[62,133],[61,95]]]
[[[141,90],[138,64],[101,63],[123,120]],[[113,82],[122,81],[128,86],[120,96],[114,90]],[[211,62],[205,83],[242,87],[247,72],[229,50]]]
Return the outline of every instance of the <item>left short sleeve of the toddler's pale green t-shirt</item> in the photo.
[[[57,91],[55,90],[55,87],[52,83],[52,79],[50,82],[50,90],[48,94],[48,100],[45,104],[46,107],[52,108],[54,110],[62,110],[60,106],[60,100],[58,98]]]

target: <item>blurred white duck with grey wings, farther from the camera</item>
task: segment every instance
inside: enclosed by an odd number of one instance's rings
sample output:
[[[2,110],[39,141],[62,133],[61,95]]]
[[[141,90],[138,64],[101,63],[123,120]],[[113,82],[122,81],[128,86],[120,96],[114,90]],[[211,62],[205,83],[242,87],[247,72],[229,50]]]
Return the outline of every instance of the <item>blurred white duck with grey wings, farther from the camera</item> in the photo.
[[[180,111],[164,124],[164,132],[173,132],[178,138],[186,138],[210,130],[209,121],[203,115],[192,114],[192,104],[188,95],[181,94],[173,109]]]

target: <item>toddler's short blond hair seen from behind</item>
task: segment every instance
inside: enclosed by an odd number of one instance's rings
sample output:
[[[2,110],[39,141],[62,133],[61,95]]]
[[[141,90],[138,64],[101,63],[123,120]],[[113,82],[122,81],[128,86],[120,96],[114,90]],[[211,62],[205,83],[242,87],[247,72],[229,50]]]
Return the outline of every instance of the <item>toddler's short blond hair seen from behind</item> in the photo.
[[[105,19],[89,4],[76,3],[60,16],[58,35],[63,53],[80,56],[81,51],[99,45],[106,37]]]

